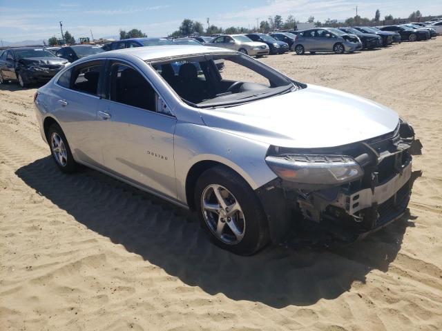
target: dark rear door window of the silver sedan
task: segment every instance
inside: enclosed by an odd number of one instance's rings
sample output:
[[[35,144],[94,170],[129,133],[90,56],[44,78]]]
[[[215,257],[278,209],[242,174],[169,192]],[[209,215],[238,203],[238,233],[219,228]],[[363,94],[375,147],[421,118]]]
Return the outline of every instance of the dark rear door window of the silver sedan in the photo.
[[[75,66],[72,70],[71,89],[88,94],[98,95],[98,82],[103,72],[103,62],[93,61],[93,63]]]

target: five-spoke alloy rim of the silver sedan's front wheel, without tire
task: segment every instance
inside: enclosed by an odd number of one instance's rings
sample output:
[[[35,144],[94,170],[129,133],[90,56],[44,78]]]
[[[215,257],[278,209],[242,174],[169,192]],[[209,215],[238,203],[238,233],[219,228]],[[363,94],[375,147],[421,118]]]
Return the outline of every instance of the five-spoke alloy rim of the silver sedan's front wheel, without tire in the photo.
[[[201,208],[204,221],[217,239],[228,245],[242,241],[246,220],[240,203],[227,188],[208,185],[202,192]]]

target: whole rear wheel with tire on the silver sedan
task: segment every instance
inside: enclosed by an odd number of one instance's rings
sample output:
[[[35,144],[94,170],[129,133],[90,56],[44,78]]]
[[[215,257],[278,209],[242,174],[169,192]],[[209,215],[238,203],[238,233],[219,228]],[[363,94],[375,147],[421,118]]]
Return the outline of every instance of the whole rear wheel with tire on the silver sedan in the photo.
[[[52,124],[48,130],[48,143],[50,154],[52,154],[59,170],[67,174],[75,172],[78,163],[75,162],[72,152],[70,152],[68,140],[63,130],[56,123]]]

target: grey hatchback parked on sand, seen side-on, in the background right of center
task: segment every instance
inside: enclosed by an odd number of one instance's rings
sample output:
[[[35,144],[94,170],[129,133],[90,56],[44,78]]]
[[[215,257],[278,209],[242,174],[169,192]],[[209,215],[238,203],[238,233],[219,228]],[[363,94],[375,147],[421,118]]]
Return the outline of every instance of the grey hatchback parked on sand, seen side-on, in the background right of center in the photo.
[[[315,28],[298,34],[295,45],[296,54],[310,52],[354,52],[362,48],[361,40],[336,28]]]

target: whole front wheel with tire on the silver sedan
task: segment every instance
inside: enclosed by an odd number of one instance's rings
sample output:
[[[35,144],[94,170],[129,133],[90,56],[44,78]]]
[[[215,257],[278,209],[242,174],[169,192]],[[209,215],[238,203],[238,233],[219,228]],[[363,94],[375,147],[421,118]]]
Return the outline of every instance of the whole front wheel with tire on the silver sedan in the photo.
[[[195,186],[195,201],[202,227],[220,248],[251,255],[269,242],[262,205],[249,184],[233,170],[217,165],[203,172]],[[226,208],[220,207],[223,203]],[[233,205],[239,208],[229,214]]]

